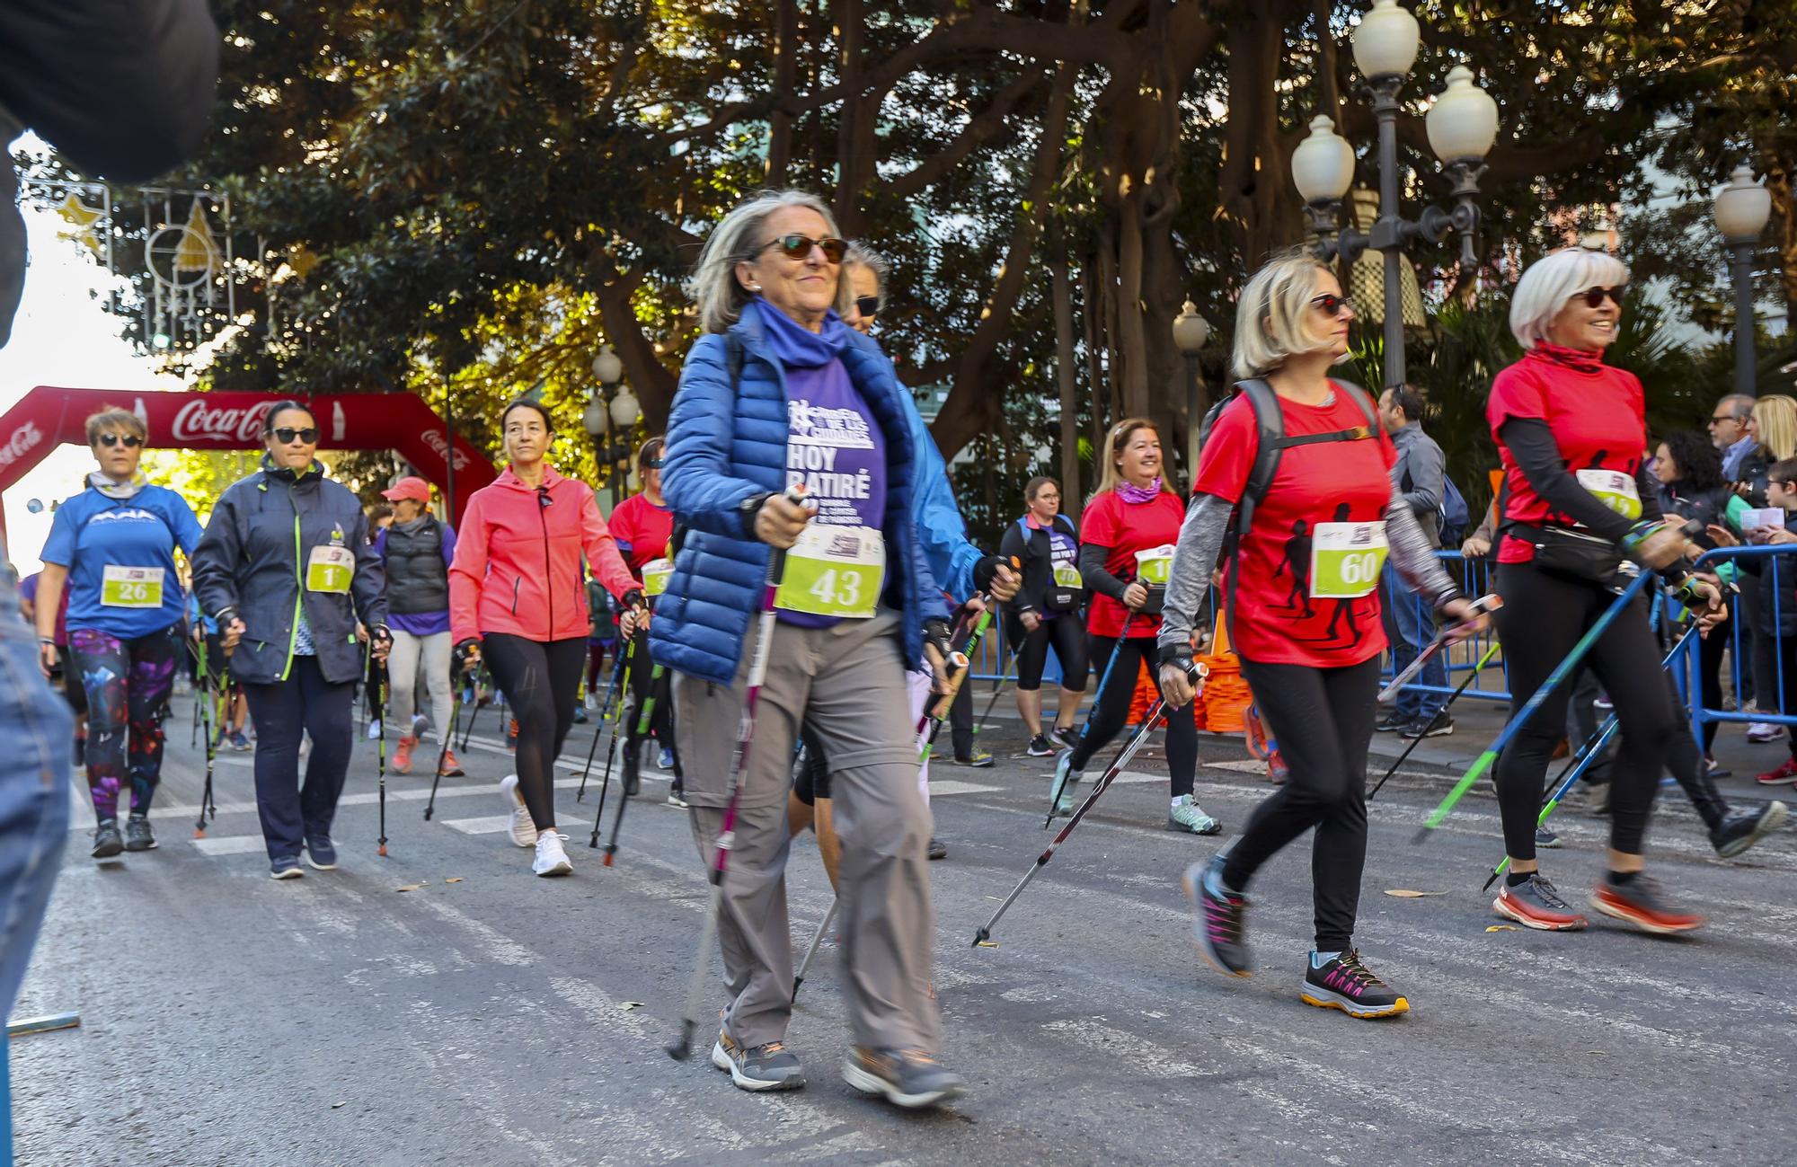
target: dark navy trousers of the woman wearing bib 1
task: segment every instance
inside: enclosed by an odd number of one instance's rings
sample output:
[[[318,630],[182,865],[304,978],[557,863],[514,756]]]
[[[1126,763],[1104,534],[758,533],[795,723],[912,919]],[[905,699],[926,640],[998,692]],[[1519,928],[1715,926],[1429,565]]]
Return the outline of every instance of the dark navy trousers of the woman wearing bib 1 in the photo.
[[[273,684],[244,684],[255,718],[255,813],[268,858],[300,858],[311,837],[331,837],[336,801],[354,747],[356,682],[331,684],[318,657],[293,657],[293,671]],[[300,736],[311,734],[305,786],[300,786]]]

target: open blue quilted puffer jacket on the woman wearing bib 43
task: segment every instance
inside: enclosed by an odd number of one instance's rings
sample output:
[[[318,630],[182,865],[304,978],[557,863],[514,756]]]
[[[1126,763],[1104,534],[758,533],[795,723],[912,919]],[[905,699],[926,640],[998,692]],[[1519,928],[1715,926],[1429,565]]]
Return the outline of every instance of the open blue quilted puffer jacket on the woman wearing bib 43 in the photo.
[[[785,370],[762,334],[762,307],[749,303],[730,332],[742,345],[742,372],[730,384],[728,345],[701,336],[686,354],[668,417],[661,492],[686,539],[674,576],[649,627],[654,659],[668,668],[730,684],[767,580],[767,544],[755,539],[740,505],[785,488]],[[906,415],[907,391],[872,339],[852,332],[843,366],[886,438],[886,594],[904,618],[904,659],[920,668],[924,621],[947,619],[918,537],[918,449]]]

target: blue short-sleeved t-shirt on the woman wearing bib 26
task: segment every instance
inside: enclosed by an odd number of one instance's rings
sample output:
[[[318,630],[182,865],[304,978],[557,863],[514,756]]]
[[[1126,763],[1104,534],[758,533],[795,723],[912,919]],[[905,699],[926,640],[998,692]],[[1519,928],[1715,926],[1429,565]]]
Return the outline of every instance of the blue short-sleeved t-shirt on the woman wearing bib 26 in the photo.
[[[122,641],[162,632],[181,618],[187,594],[174,573],[174,548],[192,557],[199,521],[165,487],[144,487],[129,499],[83,490],[56,508],[43,562],[68,567],[68,627],[93,628]],[[106,567],[160,567],[162,605],[101,603]]]

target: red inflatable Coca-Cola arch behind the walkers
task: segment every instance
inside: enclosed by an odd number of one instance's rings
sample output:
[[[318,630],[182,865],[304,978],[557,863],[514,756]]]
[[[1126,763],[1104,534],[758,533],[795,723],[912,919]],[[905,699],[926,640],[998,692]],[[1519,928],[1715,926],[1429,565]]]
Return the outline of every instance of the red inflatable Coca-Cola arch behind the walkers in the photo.
[[[0,490],[11,488],[63,442],[86,445],[86,420],[108,408],[129,409],[149,429],[149,445],[171,449],[257,449],[262,418],[280,393],[158,393],[65,390],[40,384],[0,415]],[[455,488],[449,443],[437,411],[412,393],[340,393],[304,399],[318,427],[318,449],[390,449],[444,492],[453,522],[471,494],[498,474],[492,463],[455,438]],[[5,519],[0,517],[0,533]]]

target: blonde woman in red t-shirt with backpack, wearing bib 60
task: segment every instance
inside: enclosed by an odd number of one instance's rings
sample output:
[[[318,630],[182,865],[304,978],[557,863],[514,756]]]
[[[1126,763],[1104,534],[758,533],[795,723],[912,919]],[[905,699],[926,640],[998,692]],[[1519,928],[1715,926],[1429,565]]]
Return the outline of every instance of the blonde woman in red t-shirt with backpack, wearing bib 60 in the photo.
[[[1353,1016],[1391,1016],[1409,1009],[1407,998],[1362,964],[1353,946],[1366,864],[1366,754],[1385,648],[1378,578],[1387,549],[1438,614],[1465,621],[1472,609],[1391,481],[1396,451],[1373,402],[1330,377],[1330,366],[1348,355],[1351,321],[1353,303],[1335,275],[1305,253],[1272,260],[1244,289],[1235,373],[1245,384],[1199,460],[1166,587],[1159,679],[1168,704],[1191,702],[1184,668],[1195,621],[1240,506],[1242,530],[1224,573],[1229,630],[1290,779],[1254,808],[1224,853],[1186,871],[1199,952],[1226,973],[1251,973],[1249,880],[1315,828],[1317,946],[1301,996]],[[1270,409],[1283,431],[1279,461],[1265,494],[1244,497],[1260,454],[1258,415]]]

